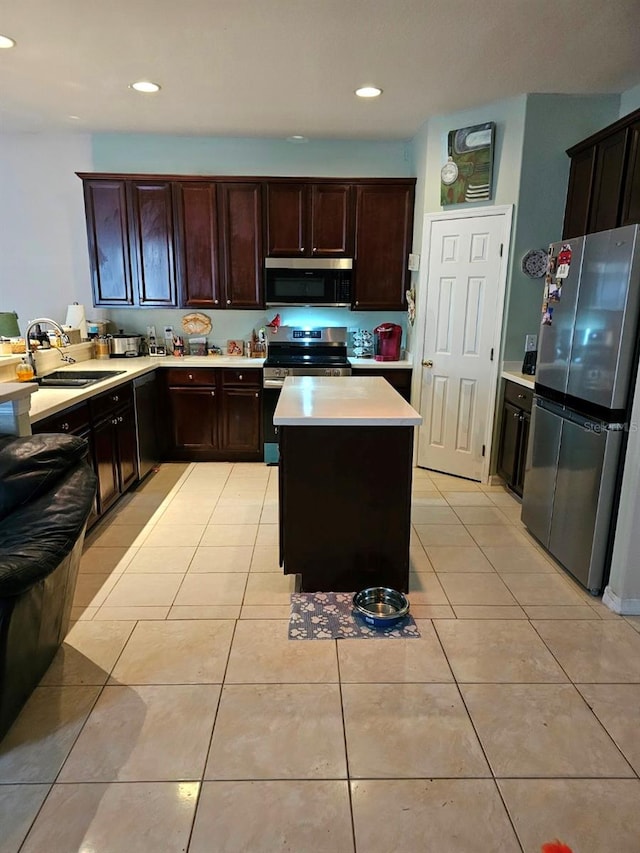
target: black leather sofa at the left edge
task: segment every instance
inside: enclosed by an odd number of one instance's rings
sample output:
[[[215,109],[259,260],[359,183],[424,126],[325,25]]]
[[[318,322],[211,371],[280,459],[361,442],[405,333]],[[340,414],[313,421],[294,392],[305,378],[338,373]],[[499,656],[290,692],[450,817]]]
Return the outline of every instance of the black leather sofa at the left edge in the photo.
[[[96,477],[83,438],[0,437],[0,738],[69,628]]]

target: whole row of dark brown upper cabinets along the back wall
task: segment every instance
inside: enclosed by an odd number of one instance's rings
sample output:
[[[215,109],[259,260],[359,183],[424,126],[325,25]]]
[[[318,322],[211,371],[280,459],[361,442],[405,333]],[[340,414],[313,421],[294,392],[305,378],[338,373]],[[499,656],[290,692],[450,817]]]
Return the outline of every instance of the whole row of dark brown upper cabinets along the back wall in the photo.
[[[405,306],[413,178],[78,174],[95,305],[260,309],[266,254],[353,257],[354,308]]]

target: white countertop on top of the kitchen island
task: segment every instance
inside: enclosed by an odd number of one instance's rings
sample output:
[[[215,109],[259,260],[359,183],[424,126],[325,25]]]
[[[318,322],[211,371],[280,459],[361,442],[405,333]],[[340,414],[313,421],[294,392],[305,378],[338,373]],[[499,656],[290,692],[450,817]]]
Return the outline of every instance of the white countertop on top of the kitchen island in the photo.
[[[417,426],[419,413],[381,376],[289,376],[276,426]]]

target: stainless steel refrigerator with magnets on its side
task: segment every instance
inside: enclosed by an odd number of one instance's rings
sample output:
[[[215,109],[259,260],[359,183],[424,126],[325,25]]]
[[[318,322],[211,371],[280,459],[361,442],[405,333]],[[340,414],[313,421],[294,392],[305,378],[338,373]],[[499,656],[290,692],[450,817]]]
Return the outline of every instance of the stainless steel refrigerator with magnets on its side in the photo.
[[[522,520],[580,583],[606,581],[638,365],[638,225],[553,243]]]

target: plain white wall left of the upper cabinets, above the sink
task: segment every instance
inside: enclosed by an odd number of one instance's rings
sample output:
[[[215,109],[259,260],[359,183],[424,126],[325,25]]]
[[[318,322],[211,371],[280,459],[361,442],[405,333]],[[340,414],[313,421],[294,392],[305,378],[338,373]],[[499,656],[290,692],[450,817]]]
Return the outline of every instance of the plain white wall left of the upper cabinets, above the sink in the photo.
[[[82,184],[88,135],[0,134],[0,310],[64,322],[92,304]],[[92,312],[95,313],[95,312]]]

